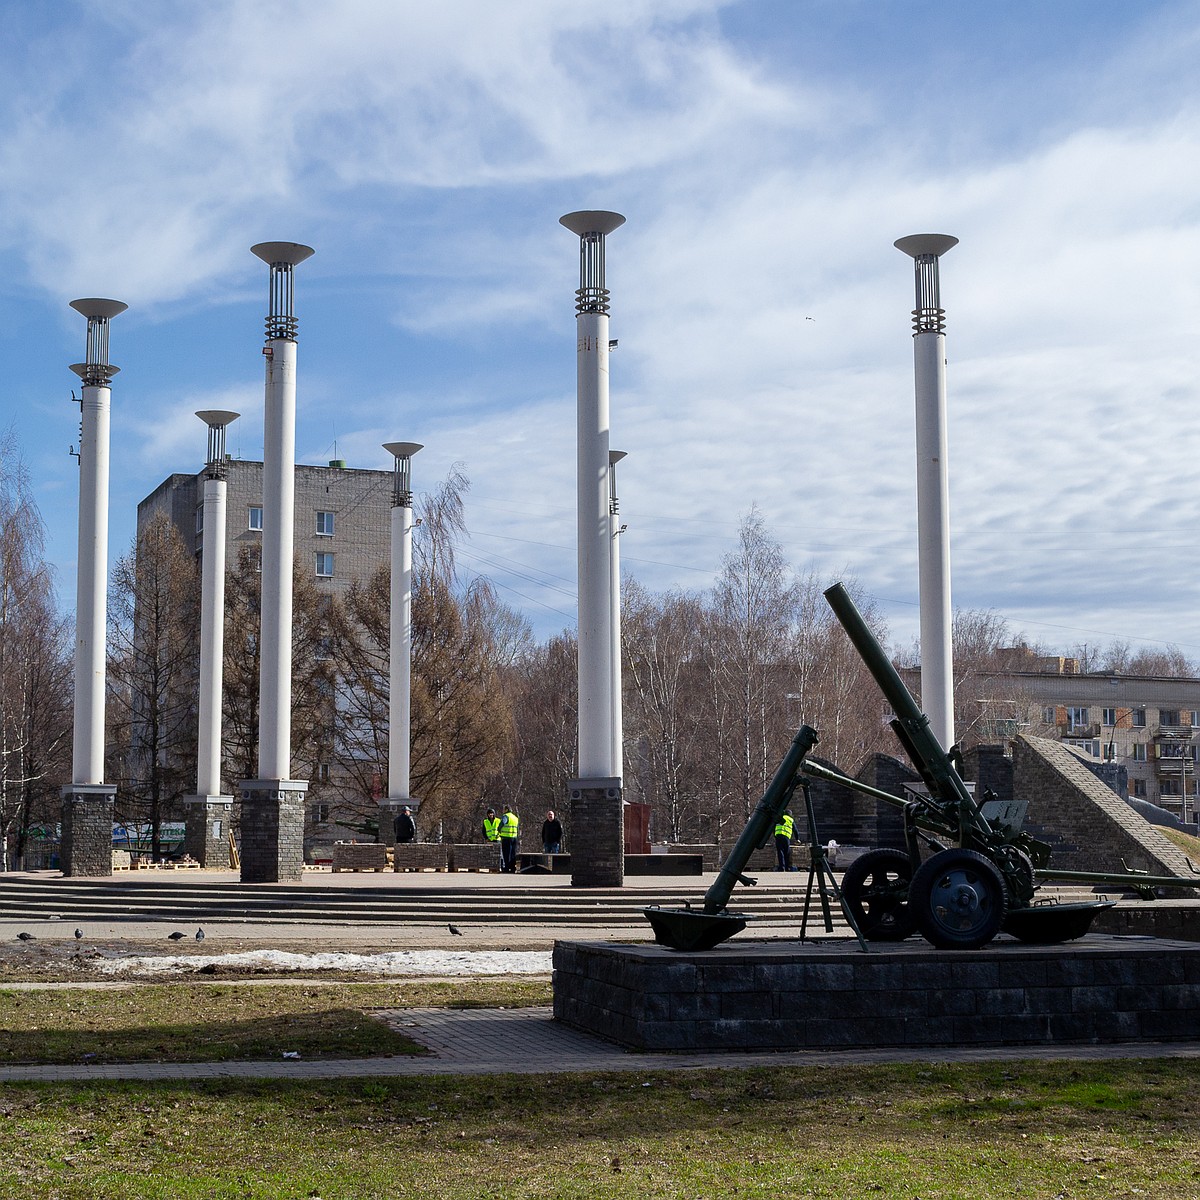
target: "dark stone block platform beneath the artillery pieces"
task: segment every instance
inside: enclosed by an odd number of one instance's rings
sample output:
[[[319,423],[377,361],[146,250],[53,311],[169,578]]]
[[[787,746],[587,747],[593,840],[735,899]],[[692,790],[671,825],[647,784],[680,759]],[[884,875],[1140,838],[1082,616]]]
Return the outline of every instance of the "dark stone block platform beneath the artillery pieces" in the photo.
[[[1200,1038],[1200,944],[1092,934],[972,952],[730,941],[554,943],[554,1016],[637,1050],[1001,1046]]]

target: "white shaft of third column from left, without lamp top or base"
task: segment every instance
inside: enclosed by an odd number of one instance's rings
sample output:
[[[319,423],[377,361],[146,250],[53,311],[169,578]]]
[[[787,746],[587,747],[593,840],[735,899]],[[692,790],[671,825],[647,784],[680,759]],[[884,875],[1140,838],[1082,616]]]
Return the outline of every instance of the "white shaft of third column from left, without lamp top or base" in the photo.
[[[292,778],[292,559],[295,526],[296,343],[268,343],[263,445],[263,599],[258,776]]]

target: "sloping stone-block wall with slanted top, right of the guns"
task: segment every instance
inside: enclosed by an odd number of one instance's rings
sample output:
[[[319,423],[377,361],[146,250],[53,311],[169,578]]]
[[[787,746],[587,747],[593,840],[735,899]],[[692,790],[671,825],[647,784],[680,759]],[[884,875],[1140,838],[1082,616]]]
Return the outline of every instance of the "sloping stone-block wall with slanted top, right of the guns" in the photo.
[[[1052,846],[1052,866],[1121,871],[1124,860],[1152,875],[1194,874],[1183,851],[1100,782],[1072,746],[1025,734],[1016,738],[1013,790],[1028,803],[1025,828]]]

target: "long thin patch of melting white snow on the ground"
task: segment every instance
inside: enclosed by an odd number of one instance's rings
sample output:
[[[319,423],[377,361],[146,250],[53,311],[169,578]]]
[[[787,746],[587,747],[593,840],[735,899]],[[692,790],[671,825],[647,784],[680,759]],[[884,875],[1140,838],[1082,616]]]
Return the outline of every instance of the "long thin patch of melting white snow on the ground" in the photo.
[[[240,971],[355,971],[373,976],[550,974],[550,950],[392,950],[386,954],[148,954],[89,964],[102,974],[184,974],[216,966]]]

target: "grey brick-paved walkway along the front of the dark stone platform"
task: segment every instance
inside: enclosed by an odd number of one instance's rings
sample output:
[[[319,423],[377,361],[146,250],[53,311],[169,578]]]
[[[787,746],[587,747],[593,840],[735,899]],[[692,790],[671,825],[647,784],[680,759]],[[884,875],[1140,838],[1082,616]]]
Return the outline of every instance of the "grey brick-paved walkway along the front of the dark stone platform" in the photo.
[[[710,1070],[722,1067],[829,1067],[886,1062],[1200,1058],[1200,1043],[1004,1046],[970,1050],[805,1050],[756,1054],[636,1054],[558,1024],[548,1008],[404,1008],[388,1018],[431,1054],[388,1058],[278,1062],[112,1063],[89,1067],[2,1067],[0,1082],[103,1080],[353,1079],[419,1075],[541,1075],[559,1072]],[[502,1049],[503,1048],[503,1051]]]

